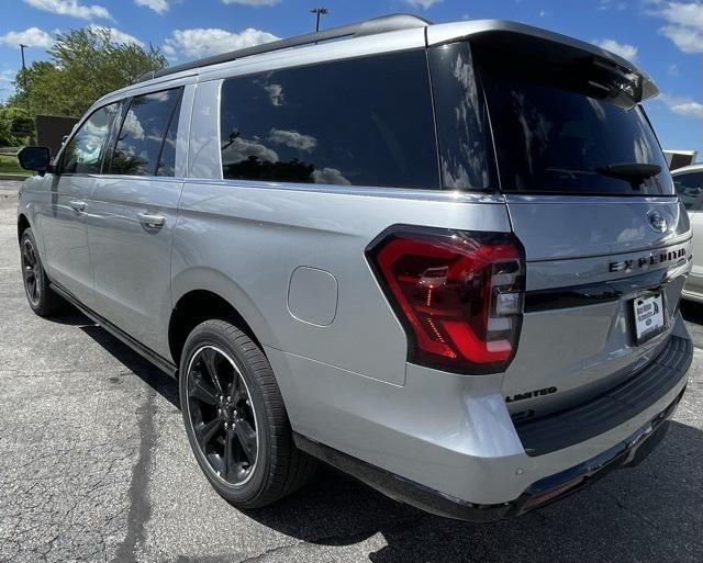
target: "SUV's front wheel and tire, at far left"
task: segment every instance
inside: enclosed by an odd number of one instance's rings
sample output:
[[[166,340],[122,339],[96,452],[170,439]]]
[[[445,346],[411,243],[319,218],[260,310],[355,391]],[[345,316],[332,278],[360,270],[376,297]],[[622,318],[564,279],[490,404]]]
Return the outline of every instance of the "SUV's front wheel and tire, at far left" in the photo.
[[[24,293],[32,311],[41,317],[51,317],[65,311],[67,303],[49,288],[31,228],[25,228],[20,238],[20,260]]]

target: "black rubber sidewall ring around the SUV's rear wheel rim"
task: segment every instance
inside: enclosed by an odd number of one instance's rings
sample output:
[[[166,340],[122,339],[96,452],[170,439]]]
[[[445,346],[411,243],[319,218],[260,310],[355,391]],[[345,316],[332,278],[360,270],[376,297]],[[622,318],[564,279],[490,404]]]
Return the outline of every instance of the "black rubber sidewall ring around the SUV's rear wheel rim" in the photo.
[[[193,425],[188,408],[188,367],[194,353],[203,346],[220,348],[230,356],[239,369],[239,372],[246,382],[249,397],[254,403],[256,432],[258,437],[257,460],[252,477],[242,485],[232,485],[220,478],[210,466],[210,463],[205,459],[196,440]],[[186,340],[179,371],[181,374],[179,378],[180,405],[183,424],[186,426],[186,435],[188,436],[188,441],[190,442],[190,447],[200,469],[217,493],[227,500],[242,505],[255,502],[260,495],[270,471],[271,436],[269,417],[266,412],[264,396],[259,389],[255,372],[249,365],[244,350],[236,342],[232,342],[231,338],[225,334],[222,334],[221,330],[207,322],[197,326]]]

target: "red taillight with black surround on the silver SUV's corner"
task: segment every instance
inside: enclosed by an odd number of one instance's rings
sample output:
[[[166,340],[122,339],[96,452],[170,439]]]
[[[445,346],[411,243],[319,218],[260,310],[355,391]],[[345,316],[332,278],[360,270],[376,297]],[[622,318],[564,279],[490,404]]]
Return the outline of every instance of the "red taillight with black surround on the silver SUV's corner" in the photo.
[[[522,320],[523,250],[509,233],[392,227],[367,249],[409,336],[409,361],[504,371]]]

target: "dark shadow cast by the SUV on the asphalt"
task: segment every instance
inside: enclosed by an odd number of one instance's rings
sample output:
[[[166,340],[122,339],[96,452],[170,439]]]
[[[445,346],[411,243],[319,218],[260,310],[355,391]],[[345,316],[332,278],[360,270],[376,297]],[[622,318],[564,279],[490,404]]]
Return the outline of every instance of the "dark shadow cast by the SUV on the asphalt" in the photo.
[[[700,314],[703,322],[703,306],[689,305],[684,316]],[[177,382],[119,339],[79,313],[58,322],[80,326],[179,408]],[[698,410],[702,392],[691,386],[679,412]],[[427,515],[328,468],[321,468],[291,497],[245,514],[301,544],[338,547],[354,559],[368,556],[375,563],[700,562],[701,466],[703,431],[674,421],[661,446],[639,466],[617,471],[591,488],[512,521],[471,525]]]

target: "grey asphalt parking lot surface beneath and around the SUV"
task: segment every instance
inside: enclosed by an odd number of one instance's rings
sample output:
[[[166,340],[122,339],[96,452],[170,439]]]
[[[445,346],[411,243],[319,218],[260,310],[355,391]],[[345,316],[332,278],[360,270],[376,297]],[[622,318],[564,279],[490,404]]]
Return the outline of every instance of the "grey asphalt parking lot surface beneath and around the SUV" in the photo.
[[[471,526],[330,470],[238,511],[201,475],[174,381],[79,313],[32,314],[16,184],[0,182],[0,561],[703,561],[703,306],[669,436],[636,469],[515,521]]]

